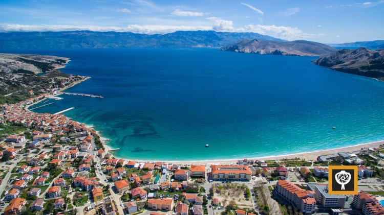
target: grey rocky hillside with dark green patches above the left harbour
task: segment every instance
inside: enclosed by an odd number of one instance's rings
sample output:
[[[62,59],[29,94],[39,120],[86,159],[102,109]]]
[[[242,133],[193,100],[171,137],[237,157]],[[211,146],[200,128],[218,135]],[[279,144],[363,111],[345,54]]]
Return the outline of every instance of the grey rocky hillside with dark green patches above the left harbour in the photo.
[[[62,85],[70,76],[57,69],[68,61],[55,56],[0,54],[0,104],[23,101]]]

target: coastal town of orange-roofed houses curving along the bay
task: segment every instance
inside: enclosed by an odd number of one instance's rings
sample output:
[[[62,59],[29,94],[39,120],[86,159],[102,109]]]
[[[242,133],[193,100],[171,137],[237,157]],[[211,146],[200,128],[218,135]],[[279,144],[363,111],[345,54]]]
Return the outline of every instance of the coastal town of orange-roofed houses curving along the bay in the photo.
[[[1,202],[9,214],[384,214],[384,147],[199,164],[115,158],[94,128],[35,113],[45,92],[0,113]],[[328,165],[358,165],[358,195],[328,194]]]

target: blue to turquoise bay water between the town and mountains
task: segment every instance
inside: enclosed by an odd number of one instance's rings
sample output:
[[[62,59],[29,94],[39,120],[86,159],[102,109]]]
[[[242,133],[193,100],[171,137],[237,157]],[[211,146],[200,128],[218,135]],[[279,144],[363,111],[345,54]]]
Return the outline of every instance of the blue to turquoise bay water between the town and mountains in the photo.
[[[315,57],[216,49],[17,52],[69,57],[62,71],[92,77],[68,91],[104,99],[61,95],[34,111],[75,107],[65,115],[97,126],[121,149],[118,157],[249,158],[384,139],[384,83],[317,66]]]

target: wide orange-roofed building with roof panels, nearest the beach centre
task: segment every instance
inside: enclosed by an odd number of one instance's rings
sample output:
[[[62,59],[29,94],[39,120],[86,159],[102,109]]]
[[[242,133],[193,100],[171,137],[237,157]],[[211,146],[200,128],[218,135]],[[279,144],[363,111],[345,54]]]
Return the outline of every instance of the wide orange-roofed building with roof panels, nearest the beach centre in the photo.
[[[246,165],[211,165],[212,179],[224,181],[249,181],[252,172]]]

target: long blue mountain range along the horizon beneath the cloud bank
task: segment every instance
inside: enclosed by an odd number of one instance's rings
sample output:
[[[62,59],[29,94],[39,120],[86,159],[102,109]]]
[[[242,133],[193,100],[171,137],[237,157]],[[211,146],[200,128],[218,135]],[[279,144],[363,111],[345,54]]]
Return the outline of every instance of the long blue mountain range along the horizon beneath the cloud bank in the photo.
[[[9,32],[0,33],[0,49],[221,47],[242,39],[284,41],[257,33],[216,31],[177,31],[163,35],[92,31]]]

